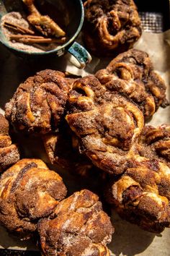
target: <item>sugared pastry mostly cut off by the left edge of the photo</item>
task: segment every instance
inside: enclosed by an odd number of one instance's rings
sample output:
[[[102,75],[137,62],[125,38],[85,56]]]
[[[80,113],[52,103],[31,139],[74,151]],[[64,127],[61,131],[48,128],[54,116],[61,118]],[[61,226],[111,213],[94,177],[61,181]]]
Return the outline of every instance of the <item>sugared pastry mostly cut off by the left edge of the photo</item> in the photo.
[[[0,114],[0,172],[19,161],[19,149],[12,144],[9,136],[9,123]]]

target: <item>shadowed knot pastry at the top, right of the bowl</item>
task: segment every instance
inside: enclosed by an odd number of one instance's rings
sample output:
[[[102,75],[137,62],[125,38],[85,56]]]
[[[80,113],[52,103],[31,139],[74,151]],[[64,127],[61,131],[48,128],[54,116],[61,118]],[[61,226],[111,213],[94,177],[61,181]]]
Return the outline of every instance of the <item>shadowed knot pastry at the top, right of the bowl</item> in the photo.
[[[119,54],[140,38],[140,18],[133,0],[87,0],[84,12],[83,38],[93,54]]]

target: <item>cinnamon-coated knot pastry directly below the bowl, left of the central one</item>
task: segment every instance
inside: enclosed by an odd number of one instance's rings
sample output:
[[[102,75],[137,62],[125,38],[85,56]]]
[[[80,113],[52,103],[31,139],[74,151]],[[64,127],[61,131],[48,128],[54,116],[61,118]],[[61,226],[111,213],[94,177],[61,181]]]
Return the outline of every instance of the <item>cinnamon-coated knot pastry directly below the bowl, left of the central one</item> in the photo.
[[[65,74],[46,69],[19,85],[6,103],[6,118],[19,130],[45,134],[57,130],[65,108],[69,82]]]

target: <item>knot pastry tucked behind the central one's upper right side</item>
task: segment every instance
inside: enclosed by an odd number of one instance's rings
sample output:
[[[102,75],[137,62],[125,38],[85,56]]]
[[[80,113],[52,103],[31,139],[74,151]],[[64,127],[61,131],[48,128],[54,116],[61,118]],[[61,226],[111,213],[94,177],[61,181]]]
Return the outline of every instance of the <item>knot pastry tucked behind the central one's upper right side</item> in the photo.
[[[144,51],[131,49],[113,59],[96,77],[107,90],[126,95],[150,118],[158,106],[166,107],[166,85],[153,71],[153,64]]]

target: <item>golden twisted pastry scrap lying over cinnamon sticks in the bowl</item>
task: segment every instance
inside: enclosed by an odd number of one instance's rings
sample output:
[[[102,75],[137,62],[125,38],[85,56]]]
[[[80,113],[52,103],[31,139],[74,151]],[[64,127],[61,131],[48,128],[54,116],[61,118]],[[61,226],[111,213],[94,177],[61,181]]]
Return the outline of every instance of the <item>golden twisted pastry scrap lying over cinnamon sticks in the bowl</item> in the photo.
[[[46,36],[55,36],[56,38],[63,37],[66,33],[58,26],[53,20],[50,19],[48,15],[41,15],[34,5],[34,0],[22,0],[26,4],[30,15],[27,20],[33,25],[37,30]]]

